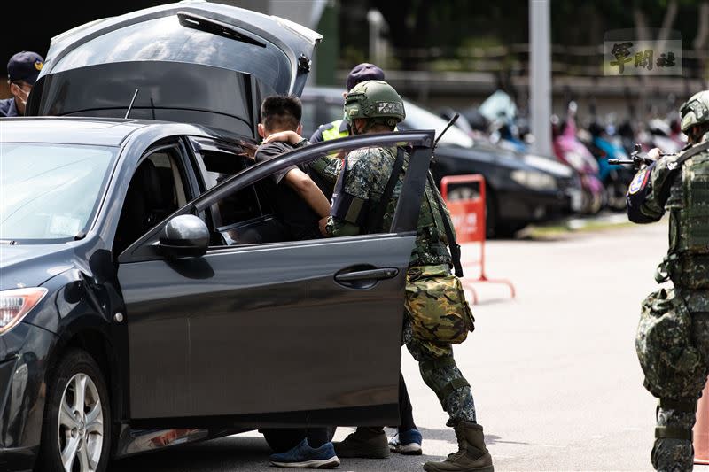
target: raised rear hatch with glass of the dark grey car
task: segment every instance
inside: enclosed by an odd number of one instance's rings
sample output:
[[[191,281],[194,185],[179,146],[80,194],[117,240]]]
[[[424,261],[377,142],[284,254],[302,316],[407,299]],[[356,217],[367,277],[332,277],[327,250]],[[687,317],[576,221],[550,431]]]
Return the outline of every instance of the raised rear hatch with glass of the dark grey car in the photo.
[[[261,98],[300,95],[321,39],[286,19],[198,1],[97,20],[52,39],[27,114],[122,118],[133,102],[131,118],[255,137]]]

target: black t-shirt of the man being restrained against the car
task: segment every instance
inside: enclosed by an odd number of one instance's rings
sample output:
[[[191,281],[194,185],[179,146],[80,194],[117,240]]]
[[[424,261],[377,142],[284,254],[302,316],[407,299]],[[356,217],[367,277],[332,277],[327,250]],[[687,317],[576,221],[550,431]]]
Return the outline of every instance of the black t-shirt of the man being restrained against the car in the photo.
[[[256,162],[264,162],[293,149],[290,143],[261,144],[256,151],[255,159]],[[276,216],[284,223],[292,239],[316,239],[321,237],[317,227],[317,222],[320,220],[317,213],[284,181],[285,174],[293,169],[300,169],[308,174],[308,168],[305,166],[290,166],[271,175],[271,179],[276,184]]]

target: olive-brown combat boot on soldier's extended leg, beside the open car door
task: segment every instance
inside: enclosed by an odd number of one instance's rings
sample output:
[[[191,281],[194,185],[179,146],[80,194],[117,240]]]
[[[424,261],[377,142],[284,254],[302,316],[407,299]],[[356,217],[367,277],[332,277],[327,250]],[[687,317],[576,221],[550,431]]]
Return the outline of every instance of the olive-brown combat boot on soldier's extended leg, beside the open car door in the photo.
[[[485,447],[482,426],[474,422],[456,425],[458,452],[448,454],[443,462],[426,462],[426,472],[493,472],[493,458]]]

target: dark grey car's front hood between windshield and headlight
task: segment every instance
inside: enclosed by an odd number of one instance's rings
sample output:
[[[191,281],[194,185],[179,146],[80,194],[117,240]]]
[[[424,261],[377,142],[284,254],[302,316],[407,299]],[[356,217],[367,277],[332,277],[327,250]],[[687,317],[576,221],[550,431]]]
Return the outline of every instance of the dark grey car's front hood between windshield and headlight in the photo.
[[[66,244],[0,245],[0,290],[39,287],[74,267],[73,258]]]

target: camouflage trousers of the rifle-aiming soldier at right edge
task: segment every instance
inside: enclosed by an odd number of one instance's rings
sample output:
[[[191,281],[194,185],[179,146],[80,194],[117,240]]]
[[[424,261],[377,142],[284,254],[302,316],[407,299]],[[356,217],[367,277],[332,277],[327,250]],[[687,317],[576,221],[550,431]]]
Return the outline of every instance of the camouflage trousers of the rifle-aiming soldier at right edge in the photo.
[[[704,306],[709,298],[704,293],[697,293],[694,290],[677,290],[682,294],[682,298],[687,300],[691,313],[690,336],[692,344],[702,355],[704,370],[697,373],[701,376],[693,383],[694,387],[688,387],[682,394],[682,398],[673,398],[689,406],[697,404],[697,399],[701,397],[701,390],[697,391],[697,383],[704,384],[706,374],[709,372],[709,306]],[[701,311],[698,311],[701,310]],[[692,384],[692,383],[688,383]],[[692,470],[694,461],[694,449],[690,431],[694,426],[696,413],[690,407],[673,407],[664,405],[662,399],[657,408],[657,426],[666,429],[679,429],[687,431],[687,438],[658,438],[651,452],[652,466],[660,472],[684,472]]]

